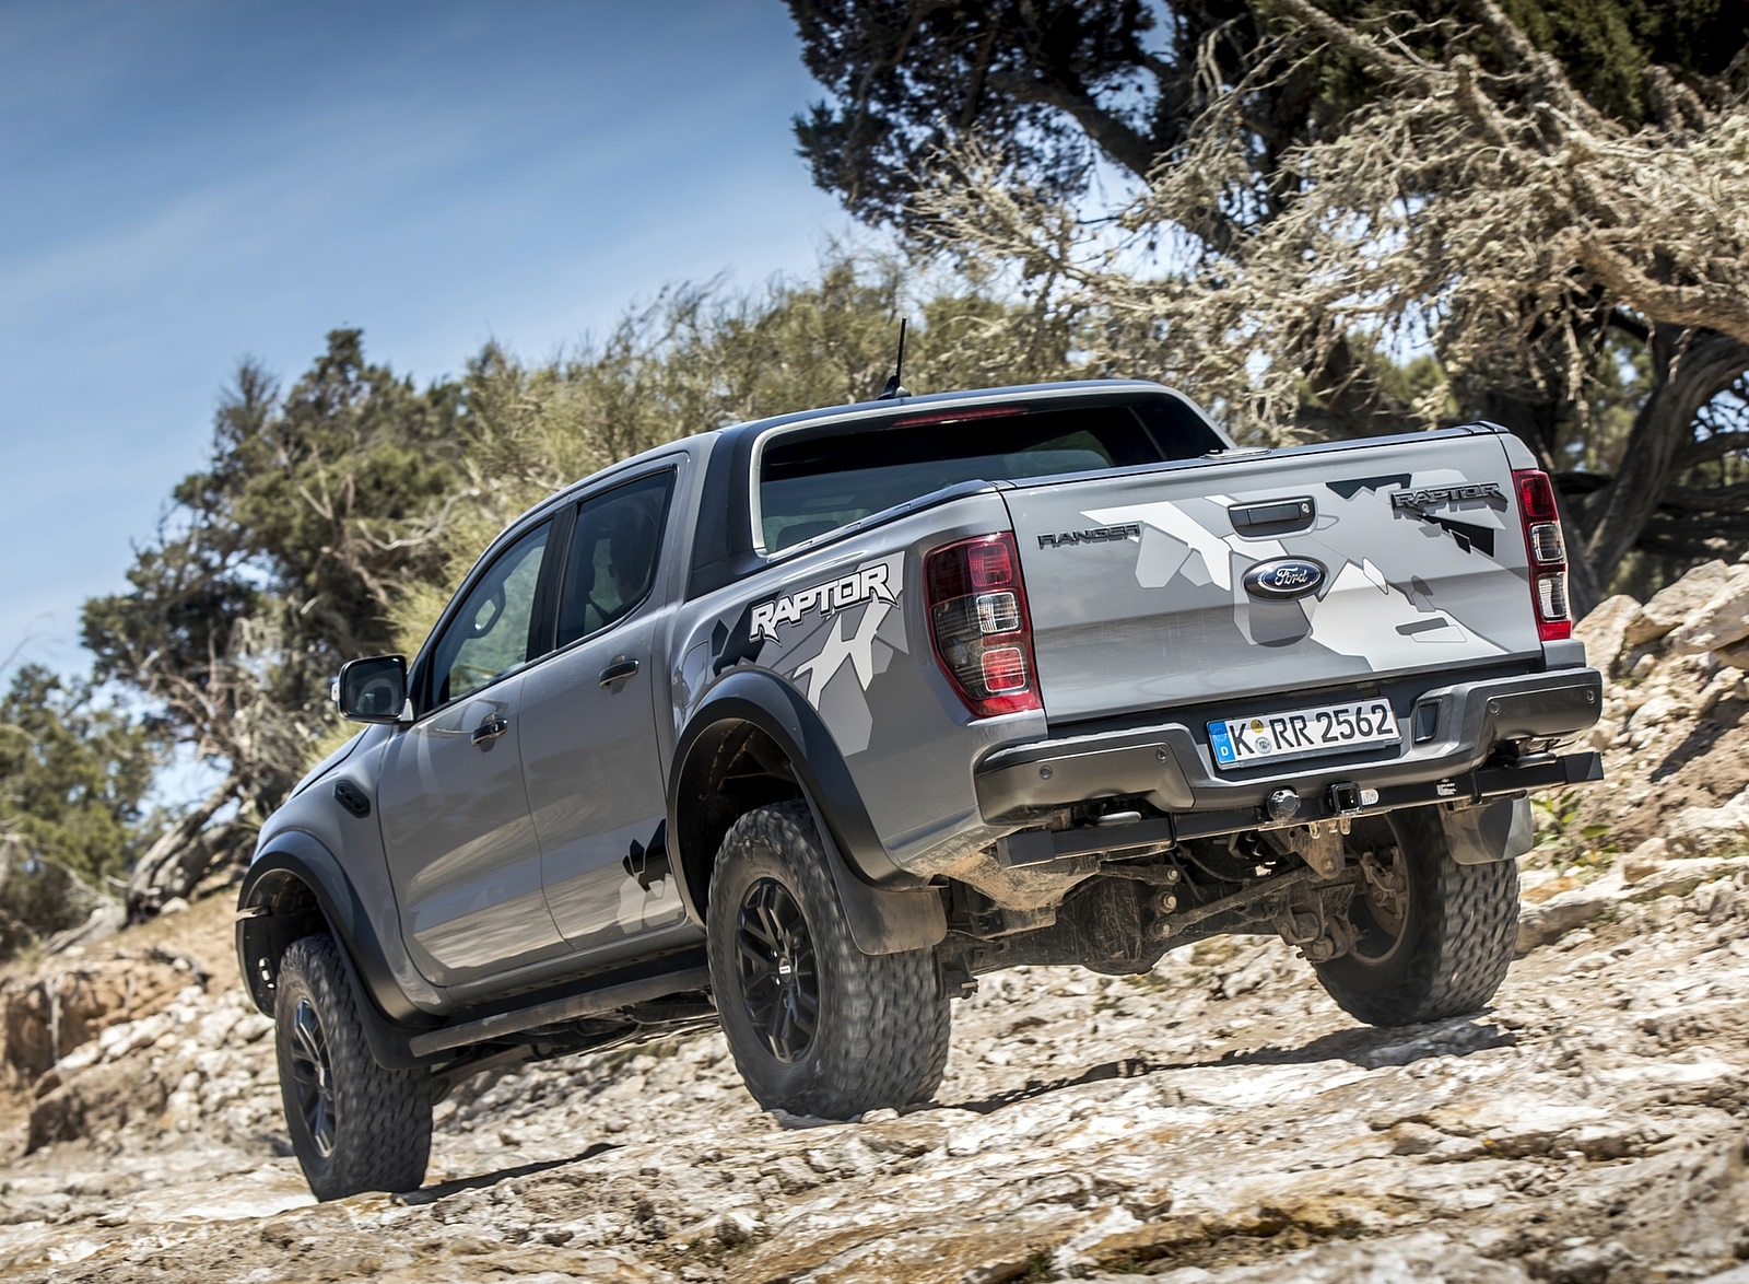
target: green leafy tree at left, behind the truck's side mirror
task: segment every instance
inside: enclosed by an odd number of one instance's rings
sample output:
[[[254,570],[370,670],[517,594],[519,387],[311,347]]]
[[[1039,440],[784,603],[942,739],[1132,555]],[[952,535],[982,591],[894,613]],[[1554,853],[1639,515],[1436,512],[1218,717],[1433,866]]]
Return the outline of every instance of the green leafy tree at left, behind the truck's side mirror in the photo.
[[[222,770],[142,857],[133,913],[185,892],[278,805],[332,717],[339,663],[390,649],[402,584],[442,574],[458,416],[453,385],[420,392],[367,364],[359,331],[329,334],[283,397],[238,367],[210,465],[177,486],[129,591],[84,611],[96,680],[138,691],[166,738]]]

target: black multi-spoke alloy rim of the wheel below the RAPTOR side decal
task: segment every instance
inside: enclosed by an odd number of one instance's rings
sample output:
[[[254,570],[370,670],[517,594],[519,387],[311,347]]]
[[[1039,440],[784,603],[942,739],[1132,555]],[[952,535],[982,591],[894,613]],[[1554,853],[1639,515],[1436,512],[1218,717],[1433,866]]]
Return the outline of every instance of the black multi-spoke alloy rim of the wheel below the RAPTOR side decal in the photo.
[[[820,976],[808,920],[784,883],[761,878],[747,889],[736,943],[747,1020],[780,1065],[794,1065],[813,1044]]]

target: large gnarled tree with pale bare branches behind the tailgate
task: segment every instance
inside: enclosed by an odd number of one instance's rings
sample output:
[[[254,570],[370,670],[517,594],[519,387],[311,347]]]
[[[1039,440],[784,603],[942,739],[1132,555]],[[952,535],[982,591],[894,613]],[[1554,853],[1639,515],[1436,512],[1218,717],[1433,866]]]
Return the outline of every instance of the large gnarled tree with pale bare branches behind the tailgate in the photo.
[[[1205,105],[1158,133],[1146,187],[1111,220],[1063,199],[1025,131],[972,122],[915,184],[904,226],[1058,282],[1058,306],[1097,322],[1098,359],[1221,402],[1258,437],[1506,423],[1560,478],[1581,609],[1634,553],[1681,565],[1740,551],[1742,10],[1462,0],[1408,19],[1272,0],[1249,12],[1249,28],[1203,40]],[[899,24],[894,10],[866,21]],[[1256,38],[1235,45],[1242,28]],[[930,30],[888,61],[946,58]],[[1182,66],[1186,49],[1161,58]],[[868,84],[890,75],[880,59],[859,66]],[[1153,96],[1132,82],[1132,115],[1167,101],[1165,63],[1153,75]],[[1418,350],[1436,378],[1404,402],[1382,366]],[[1623,437],[1611,416],[1600,441],[1592,409],[1625,371],[1632,429]]]

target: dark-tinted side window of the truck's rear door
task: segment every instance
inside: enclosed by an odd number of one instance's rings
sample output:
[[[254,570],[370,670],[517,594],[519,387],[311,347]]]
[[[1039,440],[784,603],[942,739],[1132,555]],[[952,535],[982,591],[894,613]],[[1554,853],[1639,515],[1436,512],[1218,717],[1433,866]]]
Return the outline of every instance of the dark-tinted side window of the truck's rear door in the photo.
[[[577,506],[560,591],[560,645],[624,619],[649,595],[672,492],[673,472],[658,472]]]

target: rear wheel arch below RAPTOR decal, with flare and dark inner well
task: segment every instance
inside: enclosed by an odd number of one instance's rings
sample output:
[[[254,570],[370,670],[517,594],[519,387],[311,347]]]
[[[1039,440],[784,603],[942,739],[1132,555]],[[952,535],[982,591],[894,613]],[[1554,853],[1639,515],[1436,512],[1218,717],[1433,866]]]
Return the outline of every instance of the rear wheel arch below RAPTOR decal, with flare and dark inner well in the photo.
[[[843,754],[789,684],[761,670],[728,675],[680,733],[673,761],[670,859],[698,922],[708,910],[717,848],[735,820],[754,806],[796,798],[813,813],[864,953],[918,950],[946,936],[939,892],[887,855]]]

